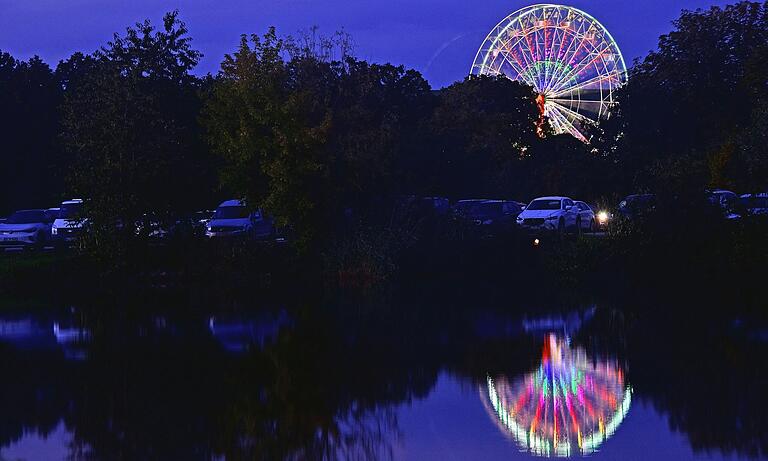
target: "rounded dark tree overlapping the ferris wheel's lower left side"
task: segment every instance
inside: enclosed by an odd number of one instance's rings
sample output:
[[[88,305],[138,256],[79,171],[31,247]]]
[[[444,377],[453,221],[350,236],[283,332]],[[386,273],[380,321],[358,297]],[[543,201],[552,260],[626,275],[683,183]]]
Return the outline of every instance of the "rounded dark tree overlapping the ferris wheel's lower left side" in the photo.
[[[533,90],[503,77],[473,77],[442,90],[429,120],[428,171],[438,194],[467,198],[520,193],[510,176],[538,141]]]

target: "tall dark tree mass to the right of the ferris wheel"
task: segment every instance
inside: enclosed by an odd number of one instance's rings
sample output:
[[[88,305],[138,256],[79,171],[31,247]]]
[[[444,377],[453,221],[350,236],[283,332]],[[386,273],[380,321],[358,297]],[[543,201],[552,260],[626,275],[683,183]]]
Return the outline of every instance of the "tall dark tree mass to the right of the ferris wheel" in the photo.
[[[674,26],[636,63],[604,124],[604,149],[623,170],[617,187],[765,187],[755,141],[765,127],[768,4],[684,11]]]

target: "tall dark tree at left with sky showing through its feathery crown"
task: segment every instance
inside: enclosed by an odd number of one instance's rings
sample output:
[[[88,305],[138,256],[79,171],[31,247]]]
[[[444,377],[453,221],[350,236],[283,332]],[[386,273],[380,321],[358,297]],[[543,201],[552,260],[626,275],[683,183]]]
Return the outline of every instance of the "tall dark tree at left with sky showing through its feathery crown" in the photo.
[[[205,190],[199,84],[190,75],[200,57],[172,12],[161,30],[138,23],[92,56],[76,54],[59,66],[70,190],[88,199],[90,243],[112,248],[108,257],[125,250],[136,220],[189,210]]]

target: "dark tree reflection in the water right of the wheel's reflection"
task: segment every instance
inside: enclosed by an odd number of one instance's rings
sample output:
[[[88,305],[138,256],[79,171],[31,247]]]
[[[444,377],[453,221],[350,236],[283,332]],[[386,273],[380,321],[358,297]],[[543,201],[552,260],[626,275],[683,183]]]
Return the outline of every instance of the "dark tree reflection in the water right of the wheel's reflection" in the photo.
[[[734,328],[735,306],[623,307],[604,309],[579,339],[626,361],[635,397],[652,402],[695,452],[768,455],[768,344]]]

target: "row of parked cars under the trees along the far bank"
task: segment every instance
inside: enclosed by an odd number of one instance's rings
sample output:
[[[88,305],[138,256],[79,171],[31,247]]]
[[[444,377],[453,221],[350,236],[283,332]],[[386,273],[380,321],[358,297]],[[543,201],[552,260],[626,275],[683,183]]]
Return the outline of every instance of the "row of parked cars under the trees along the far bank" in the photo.
[[[726,220],[744,215],[768,214],[768,194],[737,195],[726,190],[706,191],[703,198]],[[416,221],[428,228],[429,237],[449,232],[462,238],[494,238],[512,232],[528,234],[532,241],[545,241],[552,235],[581,235],[604,238],[616,219],[639,219],[656,207],[653,194],[634,194],[615,207],[598,208],[567,196],[543,196],[530,202],[506,199],[472,198],[451,202],[443,197],[409,196],[395,201],[401,220]],[[0,253],[71,251],[90,229],[87,202],[71,199],[58,207],[23,209],[0,218]],[[350,210],[354,215],[354,210]],[[113,232],[125,232],[115,223]],[[132,234],[151,245],[187,239],[199,241],[245,240],[287,242],[290,230],[278,229],[275,220],[258,207],[242,200],[222,202],[215,210],[178,216],[145,213],[132,226]],[[450,232],[449,232],[450,233]]]

